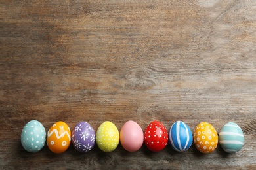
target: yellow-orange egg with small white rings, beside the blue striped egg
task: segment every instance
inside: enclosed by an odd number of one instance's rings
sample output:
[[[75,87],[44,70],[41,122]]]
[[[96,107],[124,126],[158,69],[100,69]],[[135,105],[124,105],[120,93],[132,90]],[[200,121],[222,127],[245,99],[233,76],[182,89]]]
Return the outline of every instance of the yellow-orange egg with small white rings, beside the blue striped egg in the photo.
[[[218,135],[215,128],[207,123],[201,122],[194,130],[194,144],[203,154],[213,152],[218,145]]]

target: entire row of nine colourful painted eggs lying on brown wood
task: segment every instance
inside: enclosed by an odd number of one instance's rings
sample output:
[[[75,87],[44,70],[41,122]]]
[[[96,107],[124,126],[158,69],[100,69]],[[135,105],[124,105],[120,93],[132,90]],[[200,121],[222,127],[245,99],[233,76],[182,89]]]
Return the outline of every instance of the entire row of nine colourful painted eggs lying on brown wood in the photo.
[[[21,143],[28,152],[38,152],[45,145],[45,141],[48,148],[56,154],[65,152],[70,146],[70,141],[79,152],[88,152],[95,143],[100,150],[112,152],[117,148],[119,141],[129,152],[139,150],[143,143],[149,150],[159,152],[165,148],[168,141],[174,150],[183,152],[194,142],[200,152],[207,154],[213,152],[218,143],[226,152],[238,152],[244,145],[244,134],[240,126],[233,122],[225,124],[219,135],[207,122],[198,124],[192,133],[190,127],[182,121],[175,122],[169,133],[159,121],[148,124],[143,133],[139,124],[132,120],[121,127],[120,133],[110,121],[103,122],[96,134],[87,122],[79,122],[72,131],[65,122],[56,122],[46,133],[40,122],[31,120],[22,129]]]

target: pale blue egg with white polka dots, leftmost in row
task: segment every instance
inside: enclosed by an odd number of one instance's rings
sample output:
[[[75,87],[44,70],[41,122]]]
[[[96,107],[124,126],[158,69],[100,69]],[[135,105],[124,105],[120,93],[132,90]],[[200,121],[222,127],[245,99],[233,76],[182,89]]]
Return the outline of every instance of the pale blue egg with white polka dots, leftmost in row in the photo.
[[[21,143],[28,152],[38,152],[45,146],[45,127],[37,121],[31,120],[22,129]]]

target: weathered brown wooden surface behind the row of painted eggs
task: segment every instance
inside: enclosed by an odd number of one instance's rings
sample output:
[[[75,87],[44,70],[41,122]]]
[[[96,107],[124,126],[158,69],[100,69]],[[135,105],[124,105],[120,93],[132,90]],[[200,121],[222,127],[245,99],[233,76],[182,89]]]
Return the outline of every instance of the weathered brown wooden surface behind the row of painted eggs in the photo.
[[[0,169],[256,169],[256,1],[0,2]],[[236,122],[240,152],[26,152],[29,120]]]

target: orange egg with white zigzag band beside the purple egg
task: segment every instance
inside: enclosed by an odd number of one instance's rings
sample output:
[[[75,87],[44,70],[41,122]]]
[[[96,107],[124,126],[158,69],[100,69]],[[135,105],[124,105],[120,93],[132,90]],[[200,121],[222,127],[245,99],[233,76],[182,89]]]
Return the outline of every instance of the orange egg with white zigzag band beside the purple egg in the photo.
[[[70,127],[65,122],[56,122],[47,133],[47,146],[56,153],[65,152],[70,146]]]

